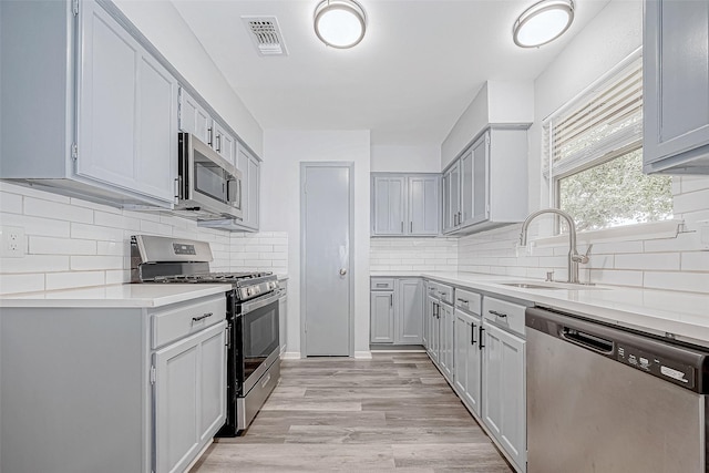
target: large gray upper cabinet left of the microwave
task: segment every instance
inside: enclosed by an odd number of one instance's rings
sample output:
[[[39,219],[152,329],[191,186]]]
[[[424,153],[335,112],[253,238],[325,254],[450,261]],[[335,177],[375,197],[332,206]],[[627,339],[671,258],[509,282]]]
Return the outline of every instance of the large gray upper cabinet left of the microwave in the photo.
[[[78,6],[0,2],[0,178],[171,207],[177,80],[115,11]]]

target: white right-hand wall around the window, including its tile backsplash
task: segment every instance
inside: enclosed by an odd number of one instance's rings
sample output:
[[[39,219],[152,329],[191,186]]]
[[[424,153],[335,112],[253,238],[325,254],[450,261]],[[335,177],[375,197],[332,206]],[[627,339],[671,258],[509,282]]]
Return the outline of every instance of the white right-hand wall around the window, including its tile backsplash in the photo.
[[[543,120],[640,47],[641,33],[643,2],[614,0],[536,79],[535,119],[528,131],[531,212],[548,207],[541,175]],[[709,218],[708,177],[674,177],[672,195],[675,217],[684,219],[688,229],[696,229],[698,220]],[[537,232],[537,226],[533,227]],[[526,254],[515,250],[520,225],[515,225],[462,238],[460,270],[534,278],[554,270],[556,279],[566,278],[567,243]],[[579,250],[585,248],[580,245]],[[696,233],[665,238],[639,234],[596,243],[590,263],[582,268],[582,280],[597,284],[709,292],[709,251],[699,249]]]

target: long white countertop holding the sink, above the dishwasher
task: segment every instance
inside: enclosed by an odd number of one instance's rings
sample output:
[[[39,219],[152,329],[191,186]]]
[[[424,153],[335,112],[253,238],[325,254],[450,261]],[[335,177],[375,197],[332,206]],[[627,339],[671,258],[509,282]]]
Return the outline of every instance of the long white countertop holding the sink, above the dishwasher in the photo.
[[[477,273],[372,271],[370,276],[425,277],[709,347],[709,294],[618,286],[578,286],[571,290],[528,289],[503,286],[501,282],[540,280]]]

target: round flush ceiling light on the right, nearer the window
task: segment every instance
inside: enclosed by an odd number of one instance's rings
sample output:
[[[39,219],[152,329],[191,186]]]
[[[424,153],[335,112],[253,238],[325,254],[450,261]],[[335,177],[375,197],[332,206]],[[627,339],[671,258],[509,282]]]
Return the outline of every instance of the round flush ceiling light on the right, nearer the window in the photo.
[[[536,48],[554,41],[574,21],[573,0],[543,0],[524,11],[512,29],[514,43]]]

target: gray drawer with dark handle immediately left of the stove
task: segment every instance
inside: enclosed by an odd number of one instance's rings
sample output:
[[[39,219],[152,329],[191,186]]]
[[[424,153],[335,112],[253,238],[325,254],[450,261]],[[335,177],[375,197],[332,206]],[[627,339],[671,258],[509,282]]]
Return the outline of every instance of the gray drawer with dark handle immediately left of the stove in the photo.
[[[153,330],[151,347],[162,347],[224,319],[226,319],[226,297],[224,295],[155,311],[151,320]]]

